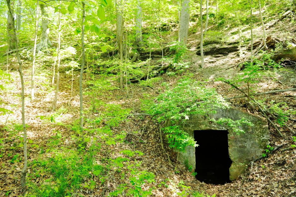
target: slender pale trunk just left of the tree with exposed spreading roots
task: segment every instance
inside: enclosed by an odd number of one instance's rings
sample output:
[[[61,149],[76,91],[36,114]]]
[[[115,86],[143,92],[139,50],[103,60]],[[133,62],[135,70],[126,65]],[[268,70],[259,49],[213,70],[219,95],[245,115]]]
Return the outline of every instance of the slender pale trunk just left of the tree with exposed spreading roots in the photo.
[[[60,1],[60,7],[61,7],[61,1]],[[59,11],[59,22],[58,22],[58,47],[57,47],[57,75],[56,75],[56,87],[55,87],[55,98],[52,103],[52,111],[55,110],[56,108],[56,102],[58,100],[58,95],[59,95],[59,85],[60,85],[60,47],[61,47],[61,10]],[[80,84],[79,84],[80,88]]]

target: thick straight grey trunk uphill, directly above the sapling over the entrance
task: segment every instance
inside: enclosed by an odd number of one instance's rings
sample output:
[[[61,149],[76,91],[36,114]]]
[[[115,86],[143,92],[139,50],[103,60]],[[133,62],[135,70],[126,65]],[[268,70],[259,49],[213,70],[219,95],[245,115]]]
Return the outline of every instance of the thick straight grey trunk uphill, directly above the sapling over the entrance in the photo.
[[[178,42],[184,45],[187,44],[187,35],[189,28],[189,2],[190,0],[182,1],[182,8],[180,10],[179,18]]]

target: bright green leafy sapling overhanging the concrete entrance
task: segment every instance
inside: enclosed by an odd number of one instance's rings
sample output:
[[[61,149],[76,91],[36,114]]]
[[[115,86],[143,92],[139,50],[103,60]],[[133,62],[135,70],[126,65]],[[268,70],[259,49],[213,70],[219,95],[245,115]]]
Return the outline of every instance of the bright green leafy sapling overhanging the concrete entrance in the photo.
[[[155,102],[145,101],[142,104],[143,109],[154,114],[158,122],[167,122],[163,131],[167,135],[169,147],[178,151],[184,151],[187,146],[197,146],[194,139],[182,129],[191,115],[209,117],[216,113],[217,108],[228,108],[228,103],[214,89],[205,88],[189,78],[179,80],[172,89],[167,88]],[[252,125],[246,119],[233,121],[222,118],[217,123],[227,125],[236,133],[243,132],[239,129],[241,125]]]

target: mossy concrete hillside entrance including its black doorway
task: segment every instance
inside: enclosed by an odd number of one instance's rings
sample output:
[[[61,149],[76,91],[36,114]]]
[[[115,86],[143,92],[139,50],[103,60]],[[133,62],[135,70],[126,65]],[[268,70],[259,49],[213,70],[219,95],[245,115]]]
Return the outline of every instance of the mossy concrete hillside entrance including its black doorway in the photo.
[[[254,126],[242,125],[245,133],[237,135],[231,128],[208,121],[207,118],[191,116],[184,130],[195,138],[198,147],[188,146],[179,154],[179,161],[195,169],[196,178],[205,183],[224,184],[235,180],[245,172],[253,157],[261,156],[269,144],[267,121],[239,109],[217,109],[211,118],[246,118]]]

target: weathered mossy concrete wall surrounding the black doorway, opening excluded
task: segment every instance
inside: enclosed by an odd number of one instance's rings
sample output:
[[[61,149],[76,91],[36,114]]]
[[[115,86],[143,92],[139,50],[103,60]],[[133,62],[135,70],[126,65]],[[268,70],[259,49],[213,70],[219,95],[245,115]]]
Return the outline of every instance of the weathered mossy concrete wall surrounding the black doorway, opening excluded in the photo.
[[[245,171],[246,164],[255,158],[261,156],[262,150],[269,144],[269,129],[267,121],[261,117],[254,116],[251,113],[242,112],[235,108],[217,109],[217,113],[211,118],[216,120],[219,118],[231,118],[232,120],[240,120],[246,118],[251,121],[254,126],[242,126],[245,133],[237,135],[231,128],[211,123],[208,119],[198,116],[191,116],[184,126],[184,130],[194,137],[195,130],[228,130],[228,151],[232,160],[229,168],[230,180],[235,180]],[[197,148],[198,149],[198,148]],[[217,151],[216,154],[219,154]],[[195,148],[188,146],[185,153],[180,153],[179,161],[187,162],[195,168]]]

